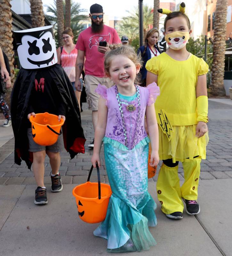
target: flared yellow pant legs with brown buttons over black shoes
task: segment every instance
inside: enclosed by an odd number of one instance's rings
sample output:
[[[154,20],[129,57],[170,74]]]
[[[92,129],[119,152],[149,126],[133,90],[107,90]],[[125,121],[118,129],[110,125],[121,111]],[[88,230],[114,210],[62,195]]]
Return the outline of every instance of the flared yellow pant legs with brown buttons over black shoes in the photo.
[[[178,165],[168,167],[164,163],[160,168],[156,183],[157,197],[161,203],[161,210],[165,214],[175,211],[183,212],[184,205],[181,198],[197,199],[197,188],[200,176],[201,158],[185,159],[182,162],[184,169],[184,184],[180,187]]]

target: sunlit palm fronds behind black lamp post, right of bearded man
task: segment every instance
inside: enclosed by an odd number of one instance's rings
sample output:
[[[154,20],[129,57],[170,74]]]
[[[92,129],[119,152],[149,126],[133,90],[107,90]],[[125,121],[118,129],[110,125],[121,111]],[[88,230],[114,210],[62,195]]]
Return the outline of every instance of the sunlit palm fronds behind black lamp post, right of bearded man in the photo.
[[[129,16],[123,17],[123,21],[119,24],[119,34],[128,35],[130,39],[134,39],[139,35],[139,8],[134,7]],[[148,5],[143,5],[143,34],[150,29],[153,24],[152,8]]]

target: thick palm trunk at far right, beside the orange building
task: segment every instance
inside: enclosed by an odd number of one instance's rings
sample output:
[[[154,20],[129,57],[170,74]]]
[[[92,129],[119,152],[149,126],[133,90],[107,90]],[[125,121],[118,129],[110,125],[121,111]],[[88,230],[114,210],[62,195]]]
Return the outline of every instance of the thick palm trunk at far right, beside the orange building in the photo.
[[[226,16],[227,0],[217,0],[215,11],[215,29],[213,39],[213,63],[212,63],[212,95],[225,95],[224,68],[226,50]]]

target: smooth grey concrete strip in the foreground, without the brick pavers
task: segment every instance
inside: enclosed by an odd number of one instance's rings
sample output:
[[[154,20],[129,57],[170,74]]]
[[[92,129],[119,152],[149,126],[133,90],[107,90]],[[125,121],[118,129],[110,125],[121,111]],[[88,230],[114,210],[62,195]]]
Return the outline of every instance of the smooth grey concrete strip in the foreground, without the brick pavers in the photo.
[[[49,203],[37,206],[33,203],[35,186],[1,185],[0,255],[109,255],[107,241],[92,233],[98,224],[79,219],[72,196],[74,186],[65,185],[60,193],[51,193],[48,188]],[[132,255],[231,255],[232,179],[201,181],[201,212],[194,217],[184,211],[182,220],[167,219],[160,210],[156,184],[149,182],[148,186],[157,204],[158,225],[150,228],[157,245]]]

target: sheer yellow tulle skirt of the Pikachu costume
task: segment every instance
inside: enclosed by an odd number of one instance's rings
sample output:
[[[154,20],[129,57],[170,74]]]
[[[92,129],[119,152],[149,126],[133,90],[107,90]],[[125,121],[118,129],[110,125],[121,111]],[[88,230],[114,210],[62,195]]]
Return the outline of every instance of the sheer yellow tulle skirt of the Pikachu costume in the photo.
[[[183,162],[184,159],[192,160],[195,156],[202,159],[206,157],[206,145],[209,142],[208,132],[197,138],[196,125],[172,126],[172,139],[168,141],[167,136],[159,127],[159,157],[160,160],[172,158],[172,162]]]

